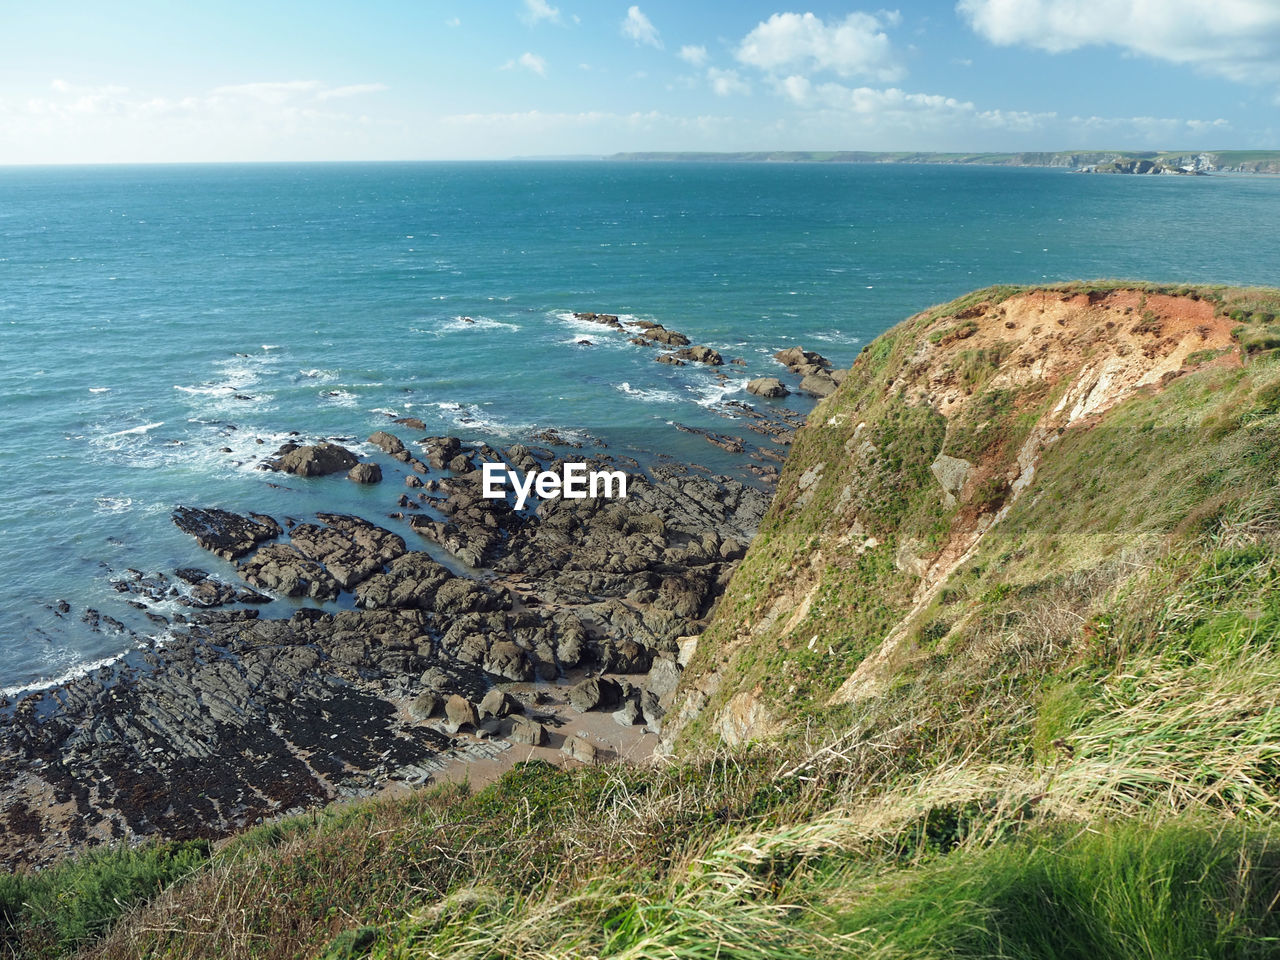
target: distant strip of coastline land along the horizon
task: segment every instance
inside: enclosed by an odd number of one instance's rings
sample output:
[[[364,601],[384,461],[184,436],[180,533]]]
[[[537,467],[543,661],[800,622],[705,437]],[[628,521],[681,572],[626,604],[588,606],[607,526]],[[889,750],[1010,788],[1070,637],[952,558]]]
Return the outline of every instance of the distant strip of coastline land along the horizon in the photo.
[[[737,152],[631,152],[607,160],[652,163],[808,163],[808,164],[952,164],[987,166],[1059,166],[1082,173],[1280,174],[1280,150],[1121,151],[1059,150],[1025,154],[876,152],[864,150],[764,150]]]

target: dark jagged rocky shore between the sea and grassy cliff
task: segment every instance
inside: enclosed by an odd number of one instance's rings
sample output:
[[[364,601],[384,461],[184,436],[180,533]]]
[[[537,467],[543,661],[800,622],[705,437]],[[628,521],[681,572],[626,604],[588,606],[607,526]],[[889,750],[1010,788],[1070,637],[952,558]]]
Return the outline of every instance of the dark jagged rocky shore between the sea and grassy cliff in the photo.
[[[676,348],[664,362],[728,376],[717,351],[678,332],[577,316],[636,346]],[[776,358],[801,393],[838,381],[817,353]],[[777,378],[749,390],[790,393]],[[548,445],[500,451],[415,436],[424,424],[399,419],[367,438],[372,458],[300,438],[259,465],[378,485],[379,522],[178,506],[173,522],[211,570],[113,581],[163,632],[111,667],[0,699],[0,864],[154,835],[225,836],[460,765],[500,765],[512,746],[591,763],[655,740],[803,422],[772,402],[716,410],[745,433],[672,426],[741,454],[736,477],[603,447],[590,456],[549,433],[530,438]],[[483,495],[485,463],[527,474],[566,460],[625,471],[627,497],[531,498],[517,511],[515,498]]]

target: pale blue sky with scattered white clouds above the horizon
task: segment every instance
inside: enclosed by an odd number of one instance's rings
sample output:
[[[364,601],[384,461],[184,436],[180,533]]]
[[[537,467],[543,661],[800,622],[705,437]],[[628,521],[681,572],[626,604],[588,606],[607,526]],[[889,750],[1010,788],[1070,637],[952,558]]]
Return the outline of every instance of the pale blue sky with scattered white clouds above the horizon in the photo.
[[[1280,0],[0,0],[0,164],[1280,148]]]

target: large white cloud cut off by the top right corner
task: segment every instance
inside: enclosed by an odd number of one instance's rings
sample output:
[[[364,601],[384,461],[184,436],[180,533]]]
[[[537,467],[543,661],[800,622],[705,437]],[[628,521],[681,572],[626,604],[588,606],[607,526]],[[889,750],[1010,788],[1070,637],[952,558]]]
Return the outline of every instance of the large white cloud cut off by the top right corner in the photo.
[[[1112,45],[1240,83],[1280,82],[1276,0],[959,0],[956,12],[1002,46]]]

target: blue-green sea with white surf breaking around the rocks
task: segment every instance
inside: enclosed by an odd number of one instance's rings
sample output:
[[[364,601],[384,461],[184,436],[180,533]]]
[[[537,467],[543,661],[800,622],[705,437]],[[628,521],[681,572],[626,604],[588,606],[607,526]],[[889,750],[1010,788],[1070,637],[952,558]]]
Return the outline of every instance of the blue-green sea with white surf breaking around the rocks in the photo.
[[[846,366],[897,320],[991,283],[1277,284],[1276,223],[1280,178],[1262,177],[0,169],[0,689],[137,644],[88,630],[86,608],[154,631],[111,588],[131,567],[232,576],[173,526],[175,504],[390,524],[385,484],[255,470],[293,430],[360,447],[411,415],[429,434],[509,444],[556,428],[730,466],[671,424],[732,431],[712,407],[742,396],[737,369],[722,384],[654,364],[572,311],[657,320],[754,376],[782,372],[771,355],[796,343]]]

